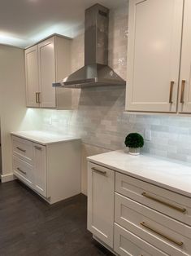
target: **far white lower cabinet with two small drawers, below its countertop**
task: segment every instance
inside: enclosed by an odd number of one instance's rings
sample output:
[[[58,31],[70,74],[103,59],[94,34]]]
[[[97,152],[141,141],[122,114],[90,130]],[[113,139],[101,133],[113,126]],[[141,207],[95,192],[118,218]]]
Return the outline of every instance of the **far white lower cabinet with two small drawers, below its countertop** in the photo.
[[[50,204],[80,193],[80,139],[42,145],[12,135],[13,173]]]

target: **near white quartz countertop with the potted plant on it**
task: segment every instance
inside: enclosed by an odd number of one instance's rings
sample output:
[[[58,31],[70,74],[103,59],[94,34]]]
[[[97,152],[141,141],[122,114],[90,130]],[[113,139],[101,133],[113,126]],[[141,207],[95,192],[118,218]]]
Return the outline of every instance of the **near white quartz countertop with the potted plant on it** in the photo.
[[[168,161],[163,157],[152,157],[147,154],[131,156],[122,150],[106,152],[87,159],[100,166],[191,197],[191,164],[189,163]]]

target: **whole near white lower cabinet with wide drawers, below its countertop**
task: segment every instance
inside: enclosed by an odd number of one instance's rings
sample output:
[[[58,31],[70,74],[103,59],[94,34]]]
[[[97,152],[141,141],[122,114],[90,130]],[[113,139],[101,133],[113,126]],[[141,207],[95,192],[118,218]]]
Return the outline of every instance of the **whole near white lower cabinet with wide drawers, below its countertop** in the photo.
[[[190,198],[89,165],[88,229],[121,256],[191,255]]]

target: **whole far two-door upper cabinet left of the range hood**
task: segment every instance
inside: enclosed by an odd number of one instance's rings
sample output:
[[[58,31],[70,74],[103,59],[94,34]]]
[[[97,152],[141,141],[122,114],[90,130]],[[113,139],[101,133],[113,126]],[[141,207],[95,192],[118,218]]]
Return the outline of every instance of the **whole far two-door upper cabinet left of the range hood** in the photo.
[[[70,39],[54,36],[28,48],[25,70],[28,107],[72,108],[72,89],[52,86],[71,73]]]

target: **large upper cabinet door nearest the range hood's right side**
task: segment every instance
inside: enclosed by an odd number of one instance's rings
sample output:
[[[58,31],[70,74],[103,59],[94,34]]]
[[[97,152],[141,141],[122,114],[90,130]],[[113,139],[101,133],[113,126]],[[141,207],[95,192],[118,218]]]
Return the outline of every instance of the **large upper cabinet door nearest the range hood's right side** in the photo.
[[[182,15],[183,0],[129,1],[126,110],[176,113]]]

